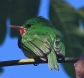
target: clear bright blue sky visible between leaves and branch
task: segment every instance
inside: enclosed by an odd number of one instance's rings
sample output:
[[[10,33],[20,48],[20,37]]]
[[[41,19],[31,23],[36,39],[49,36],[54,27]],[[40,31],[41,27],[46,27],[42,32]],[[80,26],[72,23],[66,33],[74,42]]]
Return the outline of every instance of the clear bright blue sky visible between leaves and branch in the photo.
[[[79,9],[84,6],[84,0],[66,0],[75,9]],[[48,17],[49,0],[41,0],[41,5],[39,7],[38,16]],[[10,38],[10,19],[6,21],[7,23],[7,33],[3,45],[0,46],[0,61],[4,60],[14,60],[26,58],[22,51],[17,46],[17,38]],[[65,72],[61,64],[60,71],[49,70],[47,64],[34,65],[19,65],[3,67],[4,72],[0,75],[0,78],[70,78]]]

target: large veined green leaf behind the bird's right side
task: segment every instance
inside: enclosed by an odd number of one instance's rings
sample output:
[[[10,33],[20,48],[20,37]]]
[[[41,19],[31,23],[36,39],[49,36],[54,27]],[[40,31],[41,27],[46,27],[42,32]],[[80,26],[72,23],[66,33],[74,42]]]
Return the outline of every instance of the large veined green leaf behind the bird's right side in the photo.
[[[50,20],[64,35],[66,57],[79,57],[84,53],[84,33],[79,27],[77,11],[63,0],[51,0]],[[66,72],[75,78],[73,64],[63,64]]]

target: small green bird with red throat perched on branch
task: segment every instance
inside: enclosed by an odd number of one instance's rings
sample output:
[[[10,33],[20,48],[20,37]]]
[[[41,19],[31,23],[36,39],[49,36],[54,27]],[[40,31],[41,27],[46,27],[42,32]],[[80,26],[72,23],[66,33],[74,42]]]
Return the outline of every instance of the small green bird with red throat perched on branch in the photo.
[[[28,19],[22,26],[11,25],[11,28],[20,31],[18,46],[25,56],[48,60],[50,70],[59,70],[57,58],[65,57],[65,46],[62,34],[53,28],[50,21],[39,16]]]

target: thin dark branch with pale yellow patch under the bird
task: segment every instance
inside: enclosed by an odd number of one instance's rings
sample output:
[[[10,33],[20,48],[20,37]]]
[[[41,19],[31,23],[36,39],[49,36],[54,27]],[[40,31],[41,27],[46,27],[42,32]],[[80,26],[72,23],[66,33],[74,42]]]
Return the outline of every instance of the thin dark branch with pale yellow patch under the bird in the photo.
[[[64,60],[58,58],[59,63],[74,63],[78,60],[78,58],[69,58],[66,57]],[[14,66],[14,65],[25,65],[25,64],[41,64],[48,63],[48,61],[42,61],[40,59],[21,59],[21,60],[9,60],[9,61],[1,61],[0,67],[4,66]]]

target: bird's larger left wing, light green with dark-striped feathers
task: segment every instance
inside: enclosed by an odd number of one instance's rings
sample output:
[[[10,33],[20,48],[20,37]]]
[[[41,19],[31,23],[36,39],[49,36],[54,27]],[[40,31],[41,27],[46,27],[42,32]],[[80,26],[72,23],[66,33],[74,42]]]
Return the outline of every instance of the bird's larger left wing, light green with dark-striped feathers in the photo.
[[[22,45],[26,47],[26,49],[31,50],[40,57],[45,56],[51,51],[51,47],[49,42],[47,41],[47,37],[42,34],[33,34],[28,35],[27,37],[23,37]]]

